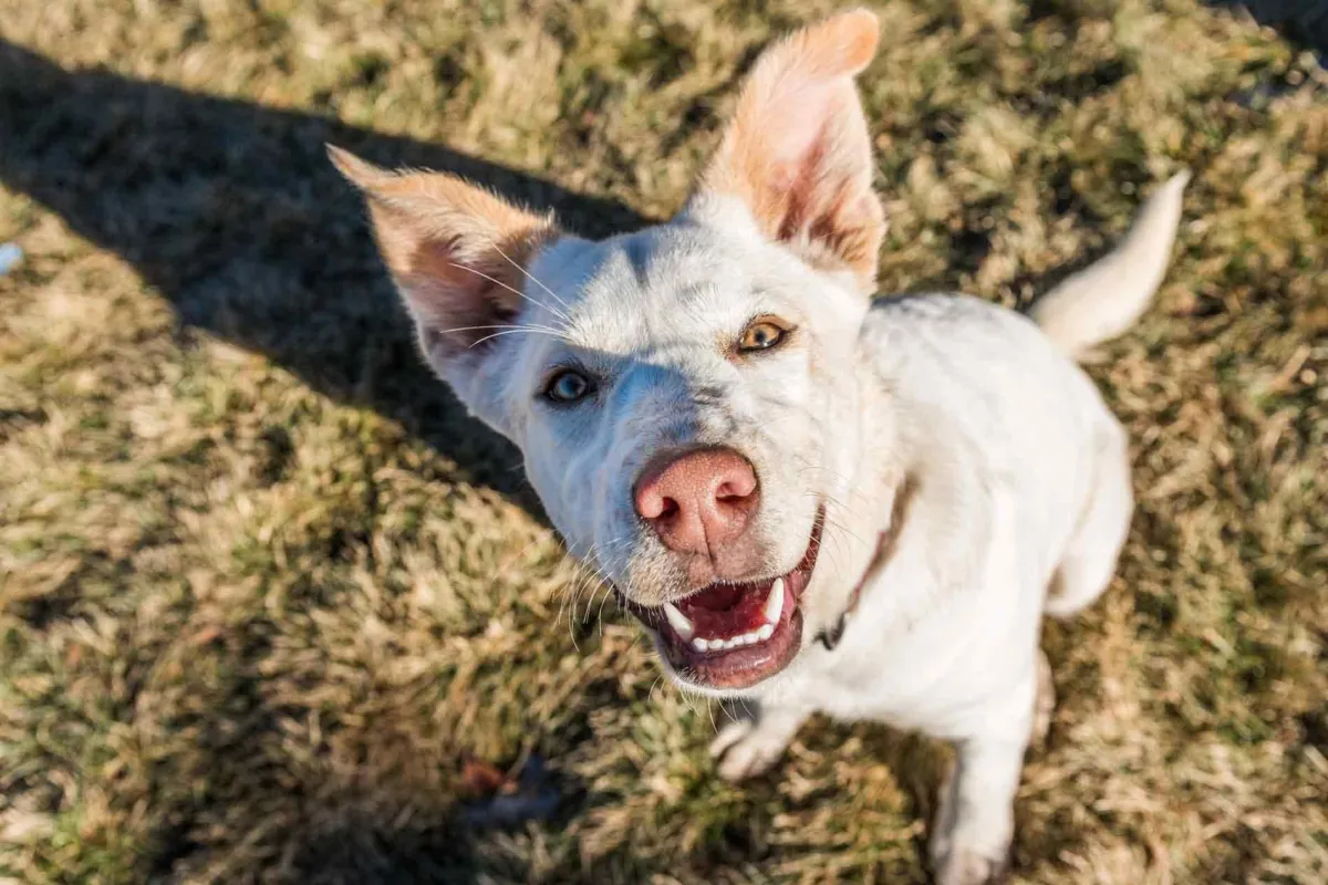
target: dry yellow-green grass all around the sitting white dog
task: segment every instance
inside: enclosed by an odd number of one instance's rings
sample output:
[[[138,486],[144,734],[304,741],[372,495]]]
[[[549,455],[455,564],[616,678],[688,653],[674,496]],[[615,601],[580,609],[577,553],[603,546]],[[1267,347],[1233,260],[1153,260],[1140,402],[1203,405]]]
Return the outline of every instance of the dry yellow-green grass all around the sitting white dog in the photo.
[[[943,752],[815,720],[720,783],[710,710],[424,372],[321,157],[661,218],[830,7],[5,4],[0,881],[923,881]],[[1016,880],[1324,881],[1328,77],[1194,0],[879,11],[883,292],[1027,300],[1197,172],[1093,368],[1139,507],[1045,633]],[[535,756],[552,819],[465,823],[474,771]]]

